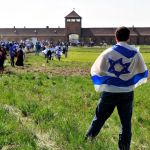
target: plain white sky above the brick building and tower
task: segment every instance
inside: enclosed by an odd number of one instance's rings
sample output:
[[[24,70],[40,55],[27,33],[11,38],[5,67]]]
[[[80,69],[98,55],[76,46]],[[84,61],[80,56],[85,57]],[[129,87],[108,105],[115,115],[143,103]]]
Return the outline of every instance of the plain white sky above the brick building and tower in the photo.
[[[73,8],[84,28],[150,27],[150,0],[0,0],[0,28],[63,28]]]

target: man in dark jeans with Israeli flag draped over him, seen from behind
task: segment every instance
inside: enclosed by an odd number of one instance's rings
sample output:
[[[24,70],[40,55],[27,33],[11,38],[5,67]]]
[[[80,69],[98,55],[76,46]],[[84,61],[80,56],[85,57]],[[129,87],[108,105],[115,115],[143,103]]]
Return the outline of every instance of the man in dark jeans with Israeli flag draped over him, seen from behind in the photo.
[[[94,139],[117,107],[121,122],[119,150],[130,149],[134,89],[148,78],[144,59],[138,49],[128,44],[129,38],[127,27],[117,28],[116,45],[103,51],[91,68],[95,90],[102,93],[85,139]]]

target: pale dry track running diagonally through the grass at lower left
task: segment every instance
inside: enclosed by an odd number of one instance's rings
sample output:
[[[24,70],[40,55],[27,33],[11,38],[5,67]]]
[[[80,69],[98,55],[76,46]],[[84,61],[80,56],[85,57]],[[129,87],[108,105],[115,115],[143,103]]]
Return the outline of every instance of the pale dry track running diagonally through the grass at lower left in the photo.
[[[29,118],[29,117],[23,117],[22,113],[19,109],[10,106],[10,105],[4,105],[2,106],[8,113],[13,114],[17,120],[27,129],[29,130],[31,133],[33,133],[36,137],[37,137],[37,145],[39,146],[39,148],[47,148],[49,150],[60,150],[55,142],[53,142],[49,135],[47,133],[43,133],[41,132],[36,124],[34,123],[34,121]],[[4,146],[2,148],[2,150],[8,150],[9,146]],[[12,146],[11,146],[12,147]]]

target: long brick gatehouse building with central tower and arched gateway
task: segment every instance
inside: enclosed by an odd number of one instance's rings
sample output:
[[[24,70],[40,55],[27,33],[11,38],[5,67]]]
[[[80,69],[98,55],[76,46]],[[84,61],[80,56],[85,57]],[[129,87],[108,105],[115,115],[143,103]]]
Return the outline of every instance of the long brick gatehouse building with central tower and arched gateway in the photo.
[[[130,44],[150,44],[150,27],[131,27]],[[65,28],[0,28],[0,40],[26,39],[80,41],[114,44],[116,28],[82,28],[82,18],[73,10],[65,17]]]

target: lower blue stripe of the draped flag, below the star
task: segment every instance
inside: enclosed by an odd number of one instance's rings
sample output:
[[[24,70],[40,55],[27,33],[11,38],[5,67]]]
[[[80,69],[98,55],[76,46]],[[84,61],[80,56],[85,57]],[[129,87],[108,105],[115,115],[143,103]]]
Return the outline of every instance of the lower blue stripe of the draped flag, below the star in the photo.
[[[124,81],[116,77],[97,76],[97,75],[92,76],[92,80],[93,80],[93,83],[96,85],[107,84],[107,85],[114,85],[118,87],[128,87],[128,86],[138,83],[139,80],[146,78],[146,77],[148,77],[148,70],[146,70],[143,73],[136,74],[135,76],[133,76],[131,79],[127,81]]]

